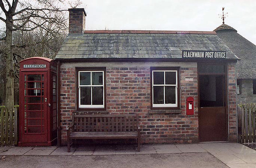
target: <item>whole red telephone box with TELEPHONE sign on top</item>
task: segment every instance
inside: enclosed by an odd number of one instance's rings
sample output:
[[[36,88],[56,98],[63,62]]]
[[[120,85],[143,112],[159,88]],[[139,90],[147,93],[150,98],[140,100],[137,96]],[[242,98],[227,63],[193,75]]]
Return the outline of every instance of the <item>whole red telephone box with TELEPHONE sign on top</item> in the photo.
[[[18,146],[51,146],[57,141],[56,71],[52,59],[20,61]]]

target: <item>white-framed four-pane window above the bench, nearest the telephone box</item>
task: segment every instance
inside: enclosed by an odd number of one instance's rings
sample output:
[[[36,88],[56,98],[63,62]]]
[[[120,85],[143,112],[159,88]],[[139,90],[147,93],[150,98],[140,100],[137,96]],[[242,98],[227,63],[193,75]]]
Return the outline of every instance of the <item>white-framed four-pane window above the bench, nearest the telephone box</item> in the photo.
[[[104,80],[103,70],[78,71],[79,108],[104,108]]]

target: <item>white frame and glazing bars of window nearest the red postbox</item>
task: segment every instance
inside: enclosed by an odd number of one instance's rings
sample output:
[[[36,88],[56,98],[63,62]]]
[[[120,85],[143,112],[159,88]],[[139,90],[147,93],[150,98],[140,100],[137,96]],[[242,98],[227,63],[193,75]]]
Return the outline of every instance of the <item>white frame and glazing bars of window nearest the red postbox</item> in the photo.
[[[164,72],[164,84],[154,84],[154,72]],[[176,72],[176,84],[165,84],[165,72]],[[164,104],[154,104],[154,86],[164,87]],[[176,86],[175,104],[165,104],[165,86]],[[178,107],[178,70],[152,70],[152,107]]]

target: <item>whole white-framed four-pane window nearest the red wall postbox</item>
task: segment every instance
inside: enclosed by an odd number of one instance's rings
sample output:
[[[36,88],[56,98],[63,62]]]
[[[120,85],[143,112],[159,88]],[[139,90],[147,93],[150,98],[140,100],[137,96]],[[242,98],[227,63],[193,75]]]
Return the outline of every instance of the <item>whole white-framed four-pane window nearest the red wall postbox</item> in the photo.
[[[178,70],[152,70],[152,107],[178,107]]]

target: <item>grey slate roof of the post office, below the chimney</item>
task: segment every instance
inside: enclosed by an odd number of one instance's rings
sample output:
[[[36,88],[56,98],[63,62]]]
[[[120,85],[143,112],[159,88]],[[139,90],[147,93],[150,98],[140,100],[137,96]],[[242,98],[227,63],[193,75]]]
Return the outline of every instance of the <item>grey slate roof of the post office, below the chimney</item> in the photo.
[[[214,31],[85,31],[69,35],[55,59],[182,58],[182,50],[226,51]]]

